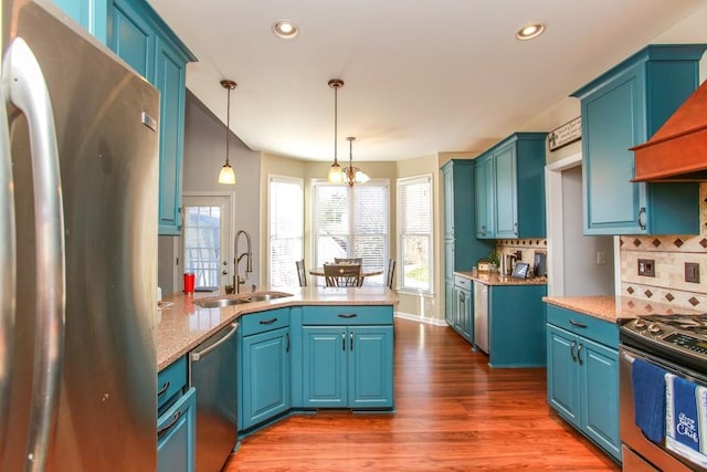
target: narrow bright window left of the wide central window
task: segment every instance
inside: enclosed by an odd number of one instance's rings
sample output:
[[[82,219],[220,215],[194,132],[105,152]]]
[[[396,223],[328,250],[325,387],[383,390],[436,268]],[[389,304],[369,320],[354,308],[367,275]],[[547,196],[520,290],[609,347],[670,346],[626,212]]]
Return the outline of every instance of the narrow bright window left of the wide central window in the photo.
[[[292,177],[270,177],[268,285],[296,286],[295,261],[304,253],[304,183]]]

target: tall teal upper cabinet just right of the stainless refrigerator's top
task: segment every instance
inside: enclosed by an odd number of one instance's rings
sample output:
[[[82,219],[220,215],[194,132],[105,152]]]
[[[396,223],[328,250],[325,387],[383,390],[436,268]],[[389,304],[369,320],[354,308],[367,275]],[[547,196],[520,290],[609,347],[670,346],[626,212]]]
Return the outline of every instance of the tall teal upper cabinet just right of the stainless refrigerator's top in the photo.
[[[107,43],[160,92],[159,233],[181,232],[187,63],[197,59],[144,0],[109,0]]]

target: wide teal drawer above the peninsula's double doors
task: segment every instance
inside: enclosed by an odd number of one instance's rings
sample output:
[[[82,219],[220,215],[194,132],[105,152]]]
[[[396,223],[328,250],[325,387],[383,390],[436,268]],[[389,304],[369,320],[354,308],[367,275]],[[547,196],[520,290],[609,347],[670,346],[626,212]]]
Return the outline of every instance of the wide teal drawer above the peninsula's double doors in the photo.
[[[303,325],[392,325],[392,305],[305,306]]]

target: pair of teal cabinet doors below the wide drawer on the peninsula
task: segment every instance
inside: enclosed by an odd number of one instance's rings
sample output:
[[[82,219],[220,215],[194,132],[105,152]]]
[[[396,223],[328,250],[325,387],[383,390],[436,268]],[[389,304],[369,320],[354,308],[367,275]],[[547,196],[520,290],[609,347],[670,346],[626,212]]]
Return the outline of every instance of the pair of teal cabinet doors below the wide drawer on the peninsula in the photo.
[[[392,326],[305,326],[303,406],[391,409],[392,366]]]

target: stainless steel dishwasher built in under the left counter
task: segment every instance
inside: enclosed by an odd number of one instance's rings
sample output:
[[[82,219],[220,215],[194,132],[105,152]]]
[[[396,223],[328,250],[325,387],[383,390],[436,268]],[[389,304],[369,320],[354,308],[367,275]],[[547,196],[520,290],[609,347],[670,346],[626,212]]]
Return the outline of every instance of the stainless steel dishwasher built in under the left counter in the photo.
[[[197,388],[197,471],[220,471],[238,442],[236,336],[239,324],[189,353],[189,385]]]

